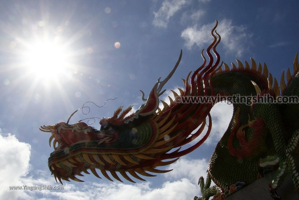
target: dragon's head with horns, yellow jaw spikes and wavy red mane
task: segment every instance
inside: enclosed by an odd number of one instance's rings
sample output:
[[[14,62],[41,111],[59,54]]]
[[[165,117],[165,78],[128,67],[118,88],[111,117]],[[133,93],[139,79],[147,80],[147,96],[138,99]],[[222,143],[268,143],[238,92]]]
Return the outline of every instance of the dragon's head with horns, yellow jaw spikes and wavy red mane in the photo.
[[[212,30],[214,41],[207,48],[210,62],[206,66],[206,59],[202,51],[204,63],[191,77],[190,72],[186,80],[183,80],[185,90],[179,89],[180,95],[172,91],[174,97],[208,95],[208,92],[213,94],[211,81],[208,79],[219,64],[219,55],[215,48],[220,41],[220,36],[216,33],[219,38],[217,41],[213,33],[216,26]],[[210,53],[211,49],[217,57],[215,63],[213,63],[213,56]],[[83,176],[81,172],[89,174],[88,169],[100,178],[96,171],[99,169],[103,176],[110,181],[113,180],[107,172],[110,172],[118,181],[121,180],[116,172],[131,182],[134,181],[127,173],[145,181],[137,173],[144,176],[155,176],[148,172],[171,171],[159,170],[156,167],[169,165],[178,160],[180,156],[200,146],[211,130],[212,123],[209,112],[212,104],[180,104],[169,97],[170,105],[162,101],[163,110],[158,107],[159,96],[165,92],[165,90],[161,92],[162,87],[175,72],[181,56],[182,51],[173,70],[163,81],[158,78],[147,99],[144,99],[144,92],[141,91],[145,103],[135,113],[126,116],[132,106],[123,112],[121,112],[122,107],[119,107],[112,117],[100,120],[100,130],[81,121],[72,125],[68,122],[60,122],[55,125],[41,126],[41,131],[51,132],[50,146],[54,139],[54,152],[50,154],[48,166],[56,181],[58,179],[61,184],[62,180],[70,181],[69,179],[82,182],[76,176]],[[203,90],[203,86],[205,86],[205,90]],[[199,142],[183,151],[179,151],[179,148],[171,153],[168,152],[170,149],[181,147],[198,137],[206,125],[207,116],[209,118],[208,131]],[[198,131],[191,134],[199,126]],[[57,143],[58,146],[56,146]],[[174,160],[162,161],[166,159]]]

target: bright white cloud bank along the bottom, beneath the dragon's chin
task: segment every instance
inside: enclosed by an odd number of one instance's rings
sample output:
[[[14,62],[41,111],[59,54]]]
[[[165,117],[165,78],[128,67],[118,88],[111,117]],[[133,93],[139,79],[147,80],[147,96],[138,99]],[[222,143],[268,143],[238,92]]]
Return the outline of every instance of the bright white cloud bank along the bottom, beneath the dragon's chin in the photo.
[[[173,167],[178,167],[175,175],[170,175],[171,181],[165,181],[159,187],[153,187],[150,182],[137,184],[123,184],[120,182],[95,183],[88,182],[77,183],[74,181],[64,183],[63,190],[9,190],[9,186],[59,186],[49,172],[38,171],[37,177],[28,176],[30,171],[30,145],[19,142],[14,136],[8,134],[4,137],[0,134],[0,199],[132,199],[132,200],[151,200],[151,199],[193,199],[198,196],[199,187],[195,184],[195,179],[190,177],[196,175],[196,167],[205,163],[205,160],[187,160],[186,165],[188,173],[182,173],[182,166],[185,165],[186,159]],[[206,164],[203,164],[206,167]],[[194,169],[192,169],[194,167]],[[199,170],[198,173],[202,173]],[[198,175],[200,175],[198,174]],[[196,176],[198,176],[196,175]],[[160,175],[162,176],[162,175]],[[187,178],[184,178],[184,177]]]

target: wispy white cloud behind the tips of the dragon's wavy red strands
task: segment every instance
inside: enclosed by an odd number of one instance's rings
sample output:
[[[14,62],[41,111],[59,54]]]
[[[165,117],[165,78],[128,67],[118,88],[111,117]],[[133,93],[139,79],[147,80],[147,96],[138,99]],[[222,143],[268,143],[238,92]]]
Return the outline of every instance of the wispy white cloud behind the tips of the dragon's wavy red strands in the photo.
[[[191,49],[193,45],[203,47],[210,44],[212,42],[210,31],[214,26],[215,22],[203,25],[200,29],[197,29],[196,25],[186,28],[181,33],[185,46]],[[232,20],[223,19],[219,21],[216,30],[221,35],[221,43],[228,52],[237,54],[237,56],[242,55],[246,49],[246,46],[242,44],[251,37],[244,26],[236,26],[232,24]]]

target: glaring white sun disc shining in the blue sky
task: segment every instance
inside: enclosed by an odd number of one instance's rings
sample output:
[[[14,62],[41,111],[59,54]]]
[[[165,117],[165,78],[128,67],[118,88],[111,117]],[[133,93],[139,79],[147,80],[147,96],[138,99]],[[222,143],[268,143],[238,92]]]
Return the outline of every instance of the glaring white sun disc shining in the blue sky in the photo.
[[[57,79],[70,66],[69,50],[59,40],[35,40],[23,54],[27,72],[44,81]]]

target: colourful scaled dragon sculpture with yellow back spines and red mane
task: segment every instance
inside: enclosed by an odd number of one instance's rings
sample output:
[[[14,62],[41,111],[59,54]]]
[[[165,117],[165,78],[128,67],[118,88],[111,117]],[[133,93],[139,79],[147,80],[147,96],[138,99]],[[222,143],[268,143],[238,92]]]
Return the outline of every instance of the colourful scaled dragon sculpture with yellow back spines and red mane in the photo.
[[[51,132],[50,146],[54,139],[55,151],[50,154],[48,166],[56,181],[58,179],[61,184],[62,180],[69,179],[83,182],[76,176],[83,176],[81,172],[89,174],[88,169],[98,178],[100,176],[96,169],[110,181],[113,180],[107,172],[118,181],[121,181],[121,175],[134,183],[132,177],[145,181],[139,175],[155,176],[150,172],[171,171],[157,167],[175,162],[207,139],[212,127],[210,110],[220,101],[181,103],[178,100],[186,96],[213,97],[218,94],[251,96],[251,105],[225,99],[233,103],[233,116],[210,158],[206,183],[202,177],[199,179],[203,196],[194,199],[208,199],[211,196],[223,199],[236,189],[256,181],[269,168],[276,169],[273,181],[269,184],[274,199],[280,199],[277,188],[286,175],[292,177],[298,192],[299,104],[258,103],[260,99],[267,100],[270,97],[277,99],[299,95],[298,54],[294,60],[293,75],[288,69],[286,84],[283,72],[279,87],[276,78],[273,80],[271,73],[268,73],[265,63],[262,67],[251,58],[251,66],[245,61],[244,67],[237,60],[238,66],[232,63],[231,69],[227,64],[220,63],[216,46],[221,38],[215,31],[216,27],[217,21],[211,31],[213,42],[206,50],[209,61],[202,50],[203,64],[183,79],[184,90],[179,88],[180,94],[171,90],[175,101],[170,97],[169,105],[161,101],[164,105],[162,110],[158,107],[159,96],[165,91],[161,92],[162,87],[178,67],[182,51],[174,69],[163,81],[158,79],[147,99],[144,99],[141,91],[145,103],[135,113],[127,116],[132,106],[123,111],[119,107],[112,117],[100,120],[100,130],[81,121],[72,125],[60,122],[41,126],[41,131]],[[181,146],[196,139],[205,126],[208,126],[208,130],[201,140],[180,150]],[[173,148],[177,149],[171,151]],[[166,159],[173,160],[163,161]],[[216,184],[213,187],[210,187],[211,180]]]

